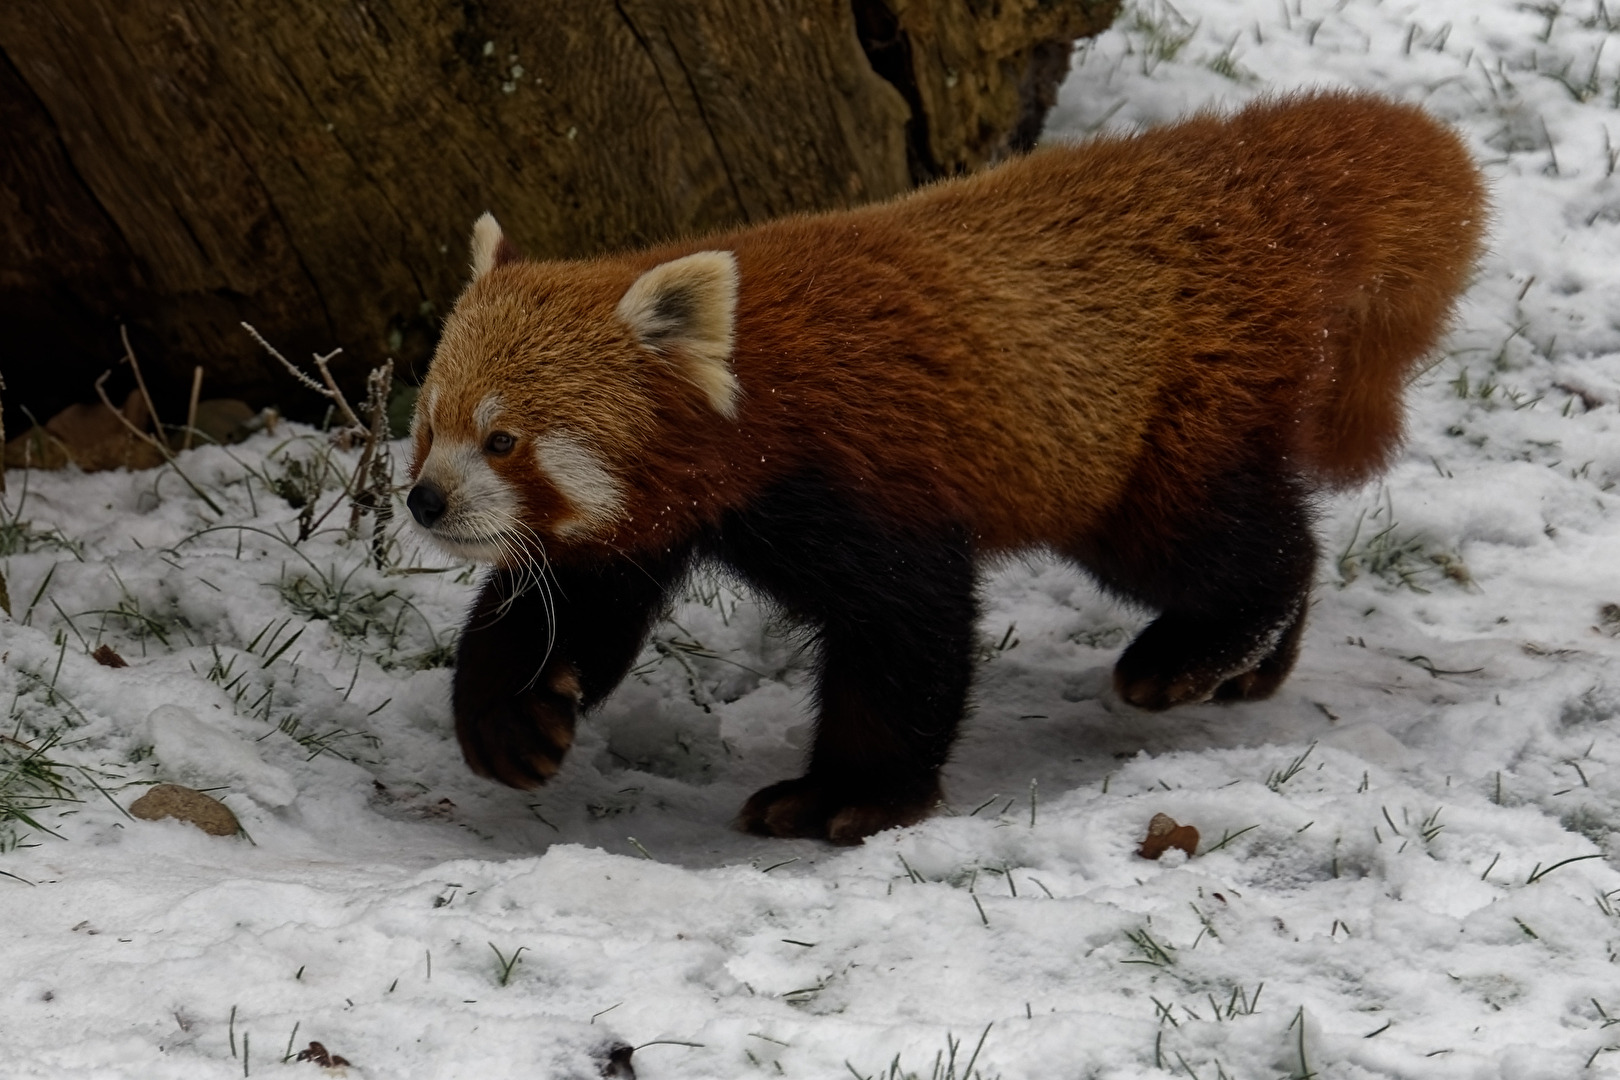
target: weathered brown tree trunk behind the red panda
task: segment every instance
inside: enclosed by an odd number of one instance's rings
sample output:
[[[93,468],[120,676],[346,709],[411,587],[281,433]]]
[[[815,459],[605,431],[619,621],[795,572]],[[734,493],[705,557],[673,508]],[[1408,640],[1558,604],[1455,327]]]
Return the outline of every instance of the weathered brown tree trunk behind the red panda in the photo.
[[[240,321],[420,374],[484,209],[582,256],[885,198],[1030,144],[1116,6],[10,0],[6,408],[89,398],[120,324],[170,423],[193,364],[293,398]]]

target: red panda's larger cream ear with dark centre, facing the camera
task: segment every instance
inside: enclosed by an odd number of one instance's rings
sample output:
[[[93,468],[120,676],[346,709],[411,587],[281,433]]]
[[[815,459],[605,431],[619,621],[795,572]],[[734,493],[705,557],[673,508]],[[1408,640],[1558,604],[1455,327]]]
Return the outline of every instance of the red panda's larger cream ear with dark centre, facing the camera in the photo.
[[[742,389],[731,371],[737,322],[737,257],[698,251],[654,266],[619,300],[619,317],[643,348],[682,364],[685,377],[726,419]]]

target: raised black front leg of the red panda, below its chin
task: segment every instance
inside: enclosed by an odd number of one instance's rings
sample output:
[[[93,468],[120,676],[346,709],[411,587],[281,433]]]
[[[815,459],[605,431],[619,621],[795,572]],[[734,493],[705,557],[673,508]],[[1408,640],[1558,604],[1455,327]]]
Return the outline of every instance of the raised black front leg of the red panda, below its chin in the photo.
[[[526,588],[509,570],[491,572],[462,631],[450,695],[473,772],[522,789],[551,779],[580,711],[630,670],[688,565],[688,552],[554,565]]]

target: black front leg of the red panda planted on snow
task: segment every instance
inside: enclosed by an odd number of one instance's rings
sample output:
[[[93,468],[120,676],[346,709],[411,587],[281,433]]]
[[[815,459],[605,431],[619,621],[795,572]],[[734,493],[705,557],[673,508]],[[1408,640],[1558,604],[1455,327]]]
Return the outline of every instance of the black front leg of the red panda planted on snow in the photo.
[[[726,518],[714,554],[810,627],[816,656],[805,776],[755,793],[739,824],[857,844],[925,818],[972,680],[967,531],[878,525],[805,474]]]

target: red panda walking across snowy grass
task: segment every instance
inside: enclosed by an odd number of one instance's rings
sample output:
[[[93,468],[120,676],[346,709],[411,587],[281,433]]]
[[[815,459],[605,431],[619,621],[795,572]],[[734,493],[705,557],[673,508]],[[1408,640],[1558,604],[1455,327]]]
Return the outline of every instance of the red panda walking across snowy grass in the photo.
[[[1486,215],[1455,134],[1343,92],[580,262],[486,214],[407,499],[494,567],[452,690],[468,764],[551,777],[698,560],[815,646],[810,759],[753,832],[930,813],[987,555],[1051,551],[1158,612],[1115,670],[1136,706],[1270,695],[1312,497],[1388,460]]]

